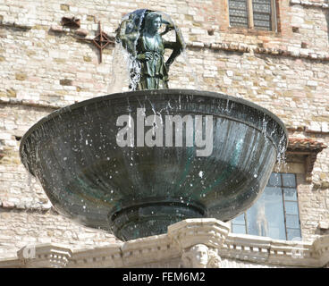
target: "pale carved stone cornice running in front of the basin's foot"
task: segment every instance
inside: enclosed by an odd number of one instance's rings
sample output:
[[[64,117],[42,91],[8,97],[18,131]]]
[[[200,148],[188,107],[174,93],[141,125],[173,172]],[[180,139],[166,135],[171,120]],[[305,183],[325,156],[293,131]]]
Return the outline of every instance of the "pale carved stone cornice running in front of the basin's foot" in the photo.
[[[324,267],[329,262],[329,236],[313,242],[272,240],[229,233],[229,224],[215,219],[189,219],[175,223],[168,233],[139,240],[72,251],[59,245],[21,248],[17,258],[0,260],[0,267],[141,267],[173,261],[181,267],[181,255],[205,245],[224,259],[270,267]]]

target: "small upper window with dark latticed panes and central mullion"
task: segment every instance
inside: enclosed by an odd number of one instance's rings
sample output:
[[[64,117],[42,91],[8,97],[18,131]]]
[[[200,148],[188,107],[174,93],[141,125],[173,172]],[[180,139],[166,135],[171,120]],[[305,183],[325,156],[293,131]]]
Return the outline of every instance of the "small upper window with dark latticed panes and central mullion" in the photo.
[[[228,0],[231,27],[277,31],[275,0]]]

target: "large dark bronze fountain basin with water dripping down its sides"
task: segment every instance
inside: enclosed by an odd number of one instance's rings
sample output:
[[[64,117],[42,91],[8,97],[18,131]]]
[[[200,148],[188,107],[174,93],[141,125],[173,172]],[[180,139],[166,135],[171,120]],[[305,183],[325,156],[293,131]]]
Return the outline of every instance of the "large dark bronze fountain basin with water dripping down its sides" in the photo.
[[[119,116],[136,119],[140,108],[164,122],[165,115],[212,115],[212,153],[197,156],[198,147],[184,144],[136,147],[136,128],[134,147],[119,147]],[[165,89],[59,109],[28,130],[20,152],[61,214],[131,240],[186,218],[228,221],[242,213],[265,188],[286,144],[283,122],[260,106],[220,93]]]

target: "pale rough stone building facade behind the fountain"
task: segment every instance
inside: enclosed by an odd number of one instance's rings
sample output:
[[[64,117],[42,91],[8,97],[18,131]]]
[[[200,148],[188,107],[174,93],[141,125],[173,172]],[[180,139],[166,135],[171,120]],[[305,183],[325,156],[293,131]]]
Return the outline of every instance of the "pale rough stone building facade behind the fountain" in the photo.
[[[287,164],[275,170],[296,174],[302,240],[328,234],[329,3],[271,4],[274,26],[263,30],[231,25],[229,0],[0,0],[0,257],[28,244],[121,243],[57,214],[18,149],[46,114],[115,91],[114,45],[105,47],[100,63],[90,40],[99,29],[113,39],[122,16],[141,8],[169,14],[187,44],[171,68],[170,88],[224,92],[283,120],[290,146]],[[79,20],[79,27],[63,24],[63,17]]]

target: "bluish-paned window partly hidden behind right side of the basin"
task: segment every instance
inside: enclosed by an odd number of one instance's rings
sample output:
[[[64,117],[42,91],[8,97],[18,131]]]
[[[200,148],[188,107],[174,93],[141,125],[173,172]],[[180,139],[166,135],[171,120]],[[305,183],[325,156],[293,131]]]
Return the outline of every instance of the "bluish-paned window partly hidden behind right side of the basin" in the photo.
[[[235,233],[301,240],[296,175],[273,172],[257,202],[231,223]]]

